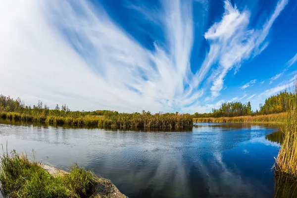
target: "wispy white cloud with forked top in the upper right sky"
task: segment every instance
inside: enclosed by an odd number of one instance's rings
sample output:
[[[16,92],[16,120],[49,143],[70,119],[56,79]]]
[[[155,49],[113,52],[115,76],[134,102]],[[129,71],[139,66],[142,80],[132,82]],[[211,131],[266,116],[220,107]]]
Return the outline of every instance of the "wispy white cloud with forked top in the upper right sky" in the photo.
[[[247,10],[241,12],[236,5],[232,6],[229,0],[225,0],[225,13],[222,20],[213,24],[204,35],[210,48],[219,48],[216,53],[208,54],[215,56],[209,59],[217,60],[219,63],[219,67],[213,73],[216,76],[211,87],[213,97],[220,95],[224,78],[229,70],[234,67],[238,70],[243,60],[248,59],[252,53],[254,56],[259,54],[268,46],[267,42],[264,44],[263,42],[274,20],[287,3],[288,0],[280,0],[262,29],[254,30],[249,29],[249,12]]]

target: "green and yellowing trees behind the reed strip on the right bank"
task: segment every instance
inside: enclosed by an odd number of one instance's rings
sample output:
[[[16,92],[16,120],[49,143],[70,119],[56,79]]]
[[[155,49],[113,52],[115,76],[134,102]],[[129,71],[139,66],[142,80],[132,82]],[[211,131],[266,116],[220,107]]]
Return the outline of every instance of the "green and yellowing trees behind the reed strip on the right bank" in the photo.
[[[265,100],[264,105],[259,104],[260,110],[252,111],[250,102],[225,102],[218,109],[213,108],[210,113],[194,114],[194,118],[208,117],[238,117],[247,115],[267,115],[273,113],[281,113],[286,111],[287,101],[293,93],[287,91],[280,92],[276,96],[272,96]]]

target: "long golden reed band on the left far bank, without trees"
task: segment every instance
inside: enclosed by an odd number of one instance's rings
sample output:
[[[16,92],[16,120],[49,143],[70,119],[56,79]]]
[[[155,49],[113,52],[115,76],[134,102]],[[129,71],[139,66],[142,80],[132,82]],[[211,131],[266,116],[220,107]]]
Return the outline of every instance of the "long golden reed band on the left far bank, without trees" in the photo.
[[[44,122],[50,124],[68,124],[75,126],[98,126],[116,128],[189,128],[193,126],[190,114],[140,114],[120,113],[111,116],[55,116],[30,115],[17,112],[0,112],[0,117],[11,120]]]

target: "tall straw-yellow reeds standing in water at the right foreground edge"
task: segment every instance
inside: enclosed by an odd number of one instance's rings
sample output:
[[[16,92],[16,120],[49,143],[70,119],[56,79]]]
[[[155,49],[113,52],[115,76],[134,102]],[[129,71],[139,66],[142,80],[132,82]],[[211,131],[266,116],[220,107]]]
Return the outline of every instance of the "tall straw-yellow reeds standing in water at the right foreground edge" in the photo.
[[[284,141],[276,160],[276,174],[288,174],[297,178],[297,89],[288,99],[287,116],[282,131]]]

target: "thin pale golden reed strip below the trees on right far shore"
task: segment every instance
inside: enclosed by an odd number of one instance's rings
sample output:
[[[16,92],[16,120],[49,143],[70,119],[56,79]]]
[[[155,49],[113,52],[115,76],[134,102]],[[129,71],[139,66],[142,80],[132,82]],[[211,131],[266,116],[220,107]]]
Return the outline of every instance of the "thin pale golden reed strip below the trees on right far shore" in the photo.
[[[286,122],[286,113],[275,113],[269,115],[247,115],[238,117],[219,117],[219,118],[193,118],[194,122],[214,122],[214,123],[224,123],[224,122],[244,122],[244,123],[276,123],[283,124]]]

